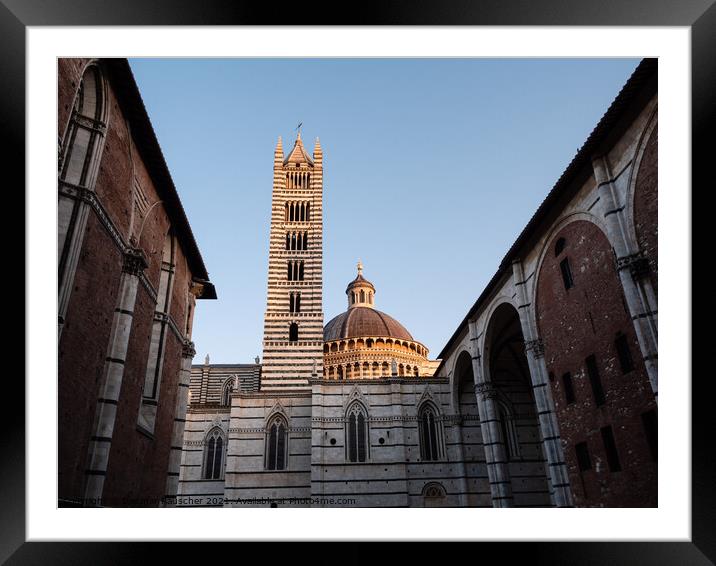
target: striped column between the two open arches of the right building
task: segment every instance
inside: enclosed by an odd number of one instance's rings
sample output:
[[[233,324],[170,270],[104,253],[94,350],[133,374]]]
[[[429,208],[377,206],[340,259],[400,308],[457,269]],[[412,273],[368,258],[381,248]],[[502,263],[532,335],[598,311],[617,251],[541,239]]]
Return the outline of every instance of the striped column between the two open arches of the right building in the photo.
[[[480,365],[481,355],[477,347],[477,329],[475,321],[468,323],[470,329],[470,353],[472,356],[472,373],[475,379],[475,396],[480,414],[480,431],[482,445],[487,460],[487,478],[490,482],[493,507],[512,507],[512,481],[505,453],[505,445],[500,432],[499,415],[495,405],[497,390],[485,380]]]

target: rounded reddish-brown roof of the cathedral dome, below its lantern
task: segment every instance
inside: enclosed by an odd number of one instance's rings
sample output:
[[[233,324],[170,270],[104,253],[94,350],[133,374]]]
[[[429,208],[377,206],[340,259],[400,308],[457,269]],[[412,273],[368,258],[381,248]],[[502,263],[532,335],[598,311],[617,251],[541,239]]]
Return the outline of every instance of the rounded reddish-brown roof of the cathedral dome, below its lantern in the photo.
[[[323,329],[323,341],[362,336],[385,336],[413,341],[405,327],[392,316],[372,307],[353,307],[333,318]]]

